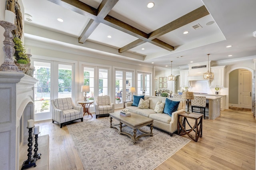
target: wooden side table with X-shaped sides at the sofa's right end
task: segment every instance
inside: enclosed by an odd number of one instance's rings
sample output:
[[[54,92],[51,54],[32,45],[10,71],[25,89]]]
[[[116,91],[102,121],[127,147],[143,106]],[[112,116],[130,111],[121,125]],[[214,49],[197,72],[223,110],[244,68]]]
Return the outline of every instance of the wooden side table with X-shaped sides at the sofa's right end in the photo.
[[[195,142],[197,142],[199,137],[202,137],[202,130],[203,130],[203,116],[202,114],[198,113],[178,113],[178,135],[184,135],[187,134],[190,138],[192,138]],[[183,118],[183,121],[182,121]],[[194,119],[195,124],[192,127],[189,122],[188,118]],[[199,122],[198,122],[199,119]],[[186,129],[186,124],[190,127],[190,129]],[[189,134],[190,132],[196,132],[196,136],[193,137],[192,134]]]

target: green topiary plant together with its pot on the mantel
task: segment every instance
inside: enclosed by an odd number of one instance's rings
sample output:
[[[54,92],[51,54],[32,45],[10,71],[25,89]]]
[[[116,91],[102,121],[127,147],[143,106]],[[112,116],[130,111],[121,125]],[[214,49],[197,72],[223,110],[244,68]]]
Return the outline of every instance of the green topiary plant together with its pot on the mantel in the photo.
[[[18,66],[20,71],[25,73],[30,67],[28,56],[26,55],[26,50],[20,38],[14,37],[13,42],[14,42],[14,49],[15,49],[15,53],[14,53],[15,64]]]

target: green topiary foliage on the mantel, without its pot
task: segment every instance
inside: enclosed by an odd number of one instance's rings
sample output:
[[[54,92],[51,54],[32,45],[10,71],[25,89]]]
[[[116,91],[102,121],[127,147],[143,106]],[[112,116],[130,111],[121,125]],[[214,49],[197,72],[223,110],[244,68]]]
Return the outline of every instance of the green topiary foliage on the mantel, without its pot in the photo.
[[[26,50],[20,38],[14,37],[13,42],[15,49],[14,58],[16,59],[17,63],[28,64],[29,61],[26,55]]]

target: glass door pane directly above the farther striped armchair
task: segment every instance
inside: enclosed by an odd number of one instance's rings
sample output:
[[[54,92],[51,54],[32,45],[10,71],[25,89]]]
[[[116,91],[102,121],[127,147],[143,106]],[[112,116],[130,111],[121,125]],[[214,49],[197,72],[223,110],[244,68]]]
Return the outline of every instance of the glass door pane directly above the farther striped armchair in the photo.
[[[99,69],[99,95],[108,95],[108,69]]]

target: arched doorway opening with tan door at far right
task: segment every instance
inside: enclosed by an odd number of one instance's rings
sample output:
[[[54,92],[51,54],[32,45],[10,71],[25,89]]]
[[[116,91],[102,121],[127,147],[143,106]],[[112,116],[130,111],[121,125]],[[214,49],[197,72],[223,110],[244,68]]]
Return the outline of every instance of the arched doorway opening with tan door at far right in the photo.
[[[252,72],[239,68],[229,73],[229,107],[252,109]]]

